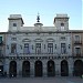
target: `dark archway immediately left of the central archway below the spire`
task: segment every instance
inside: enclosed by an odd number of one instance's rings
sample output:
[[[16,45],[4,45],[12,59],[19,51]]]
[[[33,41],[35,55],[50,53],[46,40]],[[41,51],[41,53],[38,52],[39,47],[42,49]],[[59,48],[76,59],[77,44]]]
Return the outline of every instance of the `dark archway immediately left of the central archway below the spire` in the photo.
[[[29,61],[24,61],[22,64],[22,76],[23,77],[30,76],[30,62]]]

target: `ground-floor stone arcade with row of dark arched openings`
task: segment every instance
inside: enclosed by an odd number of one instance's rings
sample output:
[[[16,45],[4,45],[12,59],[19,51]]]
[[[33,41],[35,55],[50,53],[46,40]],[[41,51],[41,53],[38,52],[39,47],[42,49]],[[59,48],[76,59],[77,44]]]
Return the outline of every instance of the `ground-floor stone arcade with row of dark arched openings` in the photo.
[[[4,72],[10,77],[29,76],[80,76],[83,74],[82,60],[7,60]]]

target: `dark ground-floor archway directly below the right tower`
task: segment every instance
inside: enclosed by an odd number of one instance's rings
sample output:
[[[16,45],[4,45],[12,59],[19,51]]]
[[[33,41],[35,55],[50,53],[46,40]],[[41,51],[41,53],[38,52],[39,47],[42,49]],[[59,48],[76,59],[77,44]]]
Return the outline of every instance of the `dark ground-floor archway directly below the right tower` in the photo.
[[[63,60],[61,62],[61,76],[68,76],[69,75],[69,65],[68,61]]]

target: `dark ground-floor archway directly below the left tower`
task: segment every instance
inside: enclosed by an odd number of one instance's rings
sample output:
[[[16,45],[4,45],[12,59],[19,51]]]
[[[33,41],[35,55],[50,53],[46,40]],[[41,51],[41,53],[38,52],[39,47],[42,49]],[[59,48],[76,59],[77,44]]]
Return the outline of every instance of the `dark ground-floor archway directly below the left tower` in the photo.
[[[15,77],[17,76],[17,62],[15,61],[10,62],[9,76],[10,77]]]

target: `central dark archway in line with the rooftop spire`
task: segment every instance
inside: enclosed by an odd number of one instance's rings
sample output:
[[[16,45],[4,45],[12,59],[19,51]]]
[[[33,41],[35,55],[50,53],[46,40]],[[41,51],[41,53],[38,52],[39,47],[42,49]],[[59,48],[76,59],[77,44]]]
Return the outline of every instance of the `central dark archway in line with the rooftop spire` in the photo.
[[[35,69],[35,76],[42,76],[42,62],[41,61],[35,61],[34,69]]]

